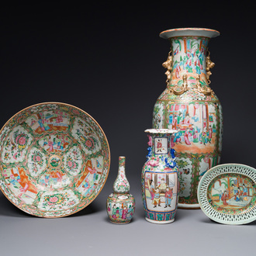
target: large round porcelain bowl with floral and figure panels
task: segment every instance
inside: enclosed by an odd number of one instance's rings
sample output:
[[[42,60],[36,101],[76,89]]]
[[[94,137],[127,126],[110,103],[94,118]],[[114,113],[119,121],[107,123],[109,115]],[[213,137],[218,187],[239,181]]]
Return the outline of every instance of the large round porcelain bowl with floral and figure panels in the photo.
[[[5,123],[0,139],[0,188],[35,216],[77,213],[96,198],[109,174],[102,128],[71,105],[29,106]]]

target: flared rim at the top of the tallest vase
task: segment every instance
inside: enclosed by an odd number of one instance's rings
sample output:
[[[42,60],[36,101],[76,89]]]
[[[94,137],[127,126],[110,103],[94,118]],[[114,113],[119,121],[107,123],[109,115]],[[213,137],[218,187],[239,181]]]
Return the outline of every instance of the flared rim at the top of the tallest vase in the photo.
[[[206,28],[178,28],[164,30],[159,34],[159,36],[164,39],[169,39],[175,36],[204,36],[213,38],[220,36],[220,32],[215,29]]]

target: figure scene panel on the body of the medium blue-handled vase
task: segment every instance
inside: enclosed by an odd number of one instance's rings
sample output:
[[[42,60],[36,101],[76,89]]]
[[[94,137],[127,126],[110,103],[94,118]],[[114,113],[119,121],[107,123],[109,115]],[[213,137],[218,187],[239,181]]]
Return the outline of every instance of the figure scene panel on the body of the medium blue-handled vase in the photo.
[[[177,173],[145,172],[145,198],[147,209],[154,212],[174,210],[177,200]]]

